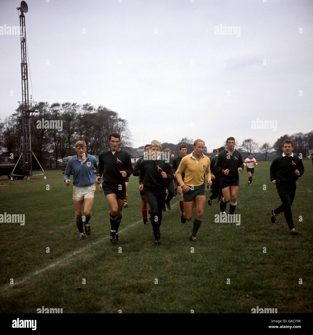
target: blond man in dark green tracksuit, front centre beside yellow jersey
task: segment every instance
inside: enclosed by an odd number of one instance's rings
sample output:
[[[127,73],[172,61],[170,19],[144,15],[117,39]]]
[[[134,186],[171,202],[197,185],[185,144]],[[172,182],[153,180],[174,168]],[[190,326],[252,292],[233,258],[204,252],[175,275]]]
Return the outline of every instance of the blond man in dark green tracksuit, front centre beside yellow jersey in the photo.
[[[151,208],[151,224],[155,236],[155,244],[160,245],[160,225],[162,209],[165,201],[165,186],[168,180],[173,180],[172,168],[163,154],[160,154],[161,143],[153,141],[150,144],[150,153],[144,157],[139,169],[139,190],[145,189],[145,194]]]

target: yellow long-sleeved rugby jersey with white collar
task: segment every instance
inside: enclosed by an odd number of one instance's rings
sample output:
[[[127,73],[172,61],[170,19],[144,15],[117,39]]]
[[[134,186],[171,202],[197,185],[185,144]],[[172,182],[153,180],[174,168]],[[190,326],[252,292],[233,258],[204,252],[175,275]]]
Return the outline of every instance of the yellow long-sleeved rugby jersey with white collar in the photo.
[[[193,152],[192,152],[193,153]],[[210,171],[210,158],[203,155],[199,163],[192,157],[192,153],[186,155],[182,158],[178,169],[175,173],[176,178],[180,186],[183,185],[194,185],[200,186],[204,182],[203,173],[206,174],[206,180],[211,180],[211,171]],[[185,171],[185,178],[182,181],[181,174]]]

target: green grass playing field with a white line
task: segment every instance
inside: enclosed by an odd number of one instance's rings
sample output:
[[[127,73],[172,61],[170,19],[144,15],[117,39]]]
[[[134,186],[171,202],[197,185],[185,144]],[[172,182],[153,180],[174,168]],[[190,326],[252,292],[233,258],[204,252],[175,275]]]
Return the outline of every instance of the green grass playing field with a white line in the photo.
[[[121,242],[112,245],[103,193],[95,193],[91,235],[77,241],[73,188],[65,186],[61,171],[47,171],[47,180],[2,176],[0,185],[9,186],[0,187],[0,214],[25,214],[25,225],[0,223],[0,311],[36,313],[44,306],[63,313],[251,313],[259,306],[312,312],[312,163],[303,161],[305,173],[297,181],[298,236],[283,214],[270,222],[270,210],[280,204],[269,181],[270,163],[255,167],[251,187],[246,171],[240,174],[240,225],[215,223],[215,200],[206,204],[194,244],[193,220],[180,222],[177,196],[163,215],[161,246],[154,245],[151,225],[142,225],[138,177],[130,178]]]

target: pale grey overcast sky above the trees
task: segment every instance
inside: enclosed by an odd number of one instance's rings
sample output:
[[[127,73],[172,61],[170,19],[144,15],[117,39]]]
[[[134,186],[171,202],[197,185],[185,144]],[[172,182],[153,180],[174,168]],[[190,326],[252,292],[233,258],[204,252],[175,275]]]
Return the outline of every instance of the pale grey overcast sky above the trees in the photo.
[[[187,137],[211,151],[229,136],[262,145],[307,133],[313,2],[264,1],[27,0],[33,99],[118,112],[134,147]],[[19,5],[0,0],[0,34],[19,26]],[[20,36],[0,46],[3,120],[22,99]]]

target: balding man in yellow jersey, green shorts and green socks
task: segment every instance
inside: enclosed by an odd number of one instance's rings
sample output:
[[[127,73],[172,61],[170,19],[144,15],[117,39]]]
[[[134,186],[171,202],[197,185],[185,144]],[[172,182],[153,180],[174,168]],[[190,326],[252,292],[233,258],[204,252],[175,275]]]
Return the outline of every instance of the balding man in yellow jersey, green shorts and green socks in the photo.
[[[205,143],[201,139],[193,142],[191,154],[182,158],[176,178],[183,190],[184,210],[180,220],[185,223],[192,219],[193,203],[195,204],[196,216],[193,221],[193,229],[189,238],[192,242],[198,242],[195,238],[202,223],[203,209],[206,204],[206,188],[204,184],[204,173],[209,186],[212,185],[210,173],[210,158],[203,154]],[[182,180],[182,173],[185,178]]]

